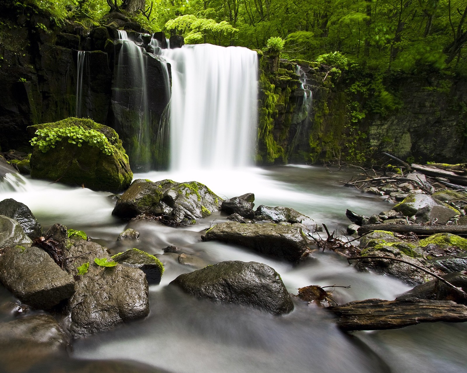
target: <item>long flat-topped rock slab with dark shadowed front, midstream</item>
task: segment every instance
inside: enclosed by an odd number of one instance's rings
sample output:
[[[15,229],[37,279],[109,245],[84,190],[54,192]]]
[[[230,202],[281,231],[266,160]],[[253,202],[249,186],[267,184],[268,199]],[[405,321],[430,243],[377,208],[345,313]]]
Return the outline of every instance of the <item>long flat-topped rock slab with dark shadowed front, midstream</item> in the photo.
[[[293,225],[220,223],[206,231],[204,240],[246,246],[292,262],[308,252],[303,230]]]

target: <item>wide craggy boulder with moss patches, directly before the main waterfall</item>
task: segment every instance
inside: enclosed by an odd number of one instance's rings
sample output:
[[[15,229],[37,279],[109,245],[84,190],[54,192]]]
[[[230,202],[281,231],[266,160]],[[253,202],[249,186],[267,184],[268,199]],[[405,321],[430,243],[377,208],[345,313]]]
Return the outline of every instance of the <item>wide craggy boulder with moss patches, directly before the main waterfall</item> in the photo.
[[[219,211],[222,198],[196,181],[177,183],[173,180],[137,179],[121,195],[112,214],[123,219],[161,217],[165,223],[190,225],[196,219]]]

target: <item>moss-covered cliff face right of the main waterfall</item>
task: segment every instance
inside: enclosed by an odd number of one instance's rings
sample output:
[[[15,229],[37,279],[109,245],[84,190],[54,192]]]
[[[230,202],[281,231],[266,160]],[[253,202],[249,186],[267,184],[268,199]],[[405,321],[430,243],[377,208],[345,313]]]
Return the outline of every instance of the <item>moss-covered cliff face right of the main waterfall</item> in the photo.
[[[296,71],[300,70],[302,82]],[[368,162],[381,151],[417,162],[467,161],[467,80],[392,76],[397,107],[356,118],[367,98],[318,63],[260,56],[258,161]],[[312,92],[306,105],[304,91]],[[371,98],[370,98],[371,99]],[[358,115],[358,114],[357,114]]]

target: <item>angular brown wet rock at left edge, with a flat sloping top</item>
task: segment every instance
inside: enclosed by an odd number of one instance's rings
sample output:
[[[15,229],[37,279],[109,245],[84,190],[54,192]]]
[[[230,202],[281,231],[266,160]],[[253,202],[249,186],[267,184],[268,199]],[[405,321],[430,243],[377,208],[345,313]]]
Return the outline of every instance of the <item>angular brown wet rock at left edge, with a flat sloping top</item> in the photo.
[[[14,246],[0,256],[0,281],[21,302],[49,310],[74,292],[73,277],[48,253],[34,246]]]

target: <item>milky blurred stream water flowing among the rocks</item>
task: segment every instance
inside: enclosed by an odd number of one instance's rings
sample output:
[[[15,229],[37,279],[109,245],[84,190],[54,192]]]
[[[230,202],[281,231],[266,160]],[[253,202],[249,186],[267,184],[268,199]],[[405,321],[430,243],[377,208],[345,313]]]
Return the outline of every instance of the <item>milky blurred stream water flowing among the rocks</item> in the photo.
[[[148,172],[135,178],[152,181],[205,183],[221,197],[255,193],[255,207],[288,206],[325,223],[339,234],[349,221],[345,210],[370,216],[389,210],[380,197],[343,187],[350,178],[309,166],[275,166],[231,170]],[[143,320],[74,341],[68,356],[37,359],[27,368],[5,372],[117,372],[98,365],[79,370],[90,360],[127,361],[135,372],[466,372],[467,325],[422,324],[400,330],[343,333],[322,308],[295,302],[295,310],[272,316],[248,307],[198,300],[168,286],[179,274],[196,266],[223,260],[258,261],[281,274],[290,293],[307,285],[341,285],[333,298],[340,304],[367,298],[394,299],[411,287],[395,278],[357,272],[347,260],[332,252],[314,252],[297,266],[258,255],[240,246],[202,242],[200,236],[212,224],[226,221],[213,213],[190,227],[167,227],[154,220],[122,222],[111,215],[109,193],[71,188],[39,180],[16,180],[14,190],[0,184],[2,198],[14,198],[33,211],[47,229],[54,223],[84,230],[92,239],[118,253],[137,247],[156,254],[165,265],[162,282],[149,288],[150,314]],[[137,243],[117,242],[120,232],[134,228]],[[130,246],[128,246],[130,245]],[[195,266],[178,263],[177,254],[163,254],[175,245],[195,258]],[[0,287],[0,304],[12,300]],[[1,316],[2,321],[9,317]],[[12,318],[12,317],[10,317]],[[21,352],[18,353],[21,359]],[[123,363],[121,363],[123,364]]]

